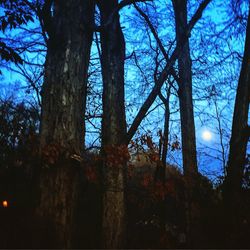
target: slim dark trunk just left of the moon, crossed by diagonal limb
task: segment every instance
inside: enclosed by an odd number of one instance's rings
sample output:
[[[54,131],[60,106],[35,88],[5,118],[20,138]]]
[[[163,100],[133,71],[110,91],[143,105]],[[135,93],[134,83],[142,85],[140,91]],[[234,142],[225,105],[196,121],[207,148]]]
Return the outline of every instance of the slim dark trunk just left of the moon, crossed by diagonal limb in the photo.
[[[172,0],[175,13],[177,46],[187,33],[187,1]],[[192,99],[192,62],[189,41],[185,43],[178,57],[179,68],[179,101],[181,115],[182,157],[185,175],[198,172],[195,142],[195,124]]]

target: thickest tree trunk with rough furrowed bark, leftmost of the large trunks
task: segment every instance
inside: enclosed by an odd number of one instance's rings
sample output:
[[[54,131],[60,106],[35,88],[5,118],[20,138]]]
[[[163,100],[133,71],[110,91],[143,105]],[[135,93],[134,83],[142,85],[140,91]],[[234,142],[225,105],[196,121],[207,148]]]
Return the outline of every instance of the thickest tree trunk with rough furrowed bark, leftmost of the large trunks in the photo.
[[[40,204],[53,247],[72,247],[80,156],[84,146],[87,71],[92,42],[91,0],[54,2],[42,88]],[[49,247],[49,246],[48,246]]]

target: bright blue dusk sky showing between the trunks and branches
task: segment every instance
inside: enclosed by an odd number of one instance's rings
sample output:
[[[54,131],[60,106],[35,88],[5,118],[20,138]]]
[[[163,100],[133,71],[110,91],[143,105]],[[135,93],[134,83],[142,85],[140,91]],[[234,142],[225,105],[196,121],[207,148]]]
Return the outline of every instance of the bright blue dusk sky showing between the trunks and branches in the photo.
[[[193,2],[190,15],[193,14],[197,8],[197,1]],[[143,5],[140,5],[143,7]],[[154,13],[154,9],[150,9],[150,17],[152,22],[157,26],[159,36],[162,39],[163,44],[166,49],[171,41],[174,41],[174,23],[173,23],[173,13],[171,12],[171,1],[158,1],[156,4],[156,12],[158,16]],[[227,157],[228,145],[230,139],[231,130],[231,120],[233,114],[235,89],[237,87],[237,81],[240,72],[241,62],[237,59],[229,57],[223,63],[220,63],[221,56],[225,55],[229,51],[235,51],[242,55],[244,49],[244,34],[239,34],[238,36],[232,37],[212,37],[212,28],[219,31],[223,28],[223,23],[227,18],[226,12],[226,2],[214,1],[208,9],[205,11],[202,20],[199,21],[196,28],[192,31],[192,36],[190,38],[191,45],[191,57],[193,60],[193,94],[194,94],[194,111],[195,111],[195,124],[196,124],[196,140],[197,140],[197,151],[198,151],[198,162],[201,172],[206,173],[211,178],[214,178],[218,174],[222,173],[222,155],[221,155],[221,144],[220,136],[218,133],[218,119],[222,124],[222,141],[225,149],[225,157]],[[144,102],[147,94],[153,86],[152,72],[154,64],[154,53],[149,47],[148,33],[145,28],[144,22],[141,21],[139,17],[136,17],[135,10],[133,7],[124,8],[121,15],[121,22],[126,38],[126,54],[131,55],[134,51],[138,56],[138,61],[143,69],[143,73],[138,70],[135,66],[133,59],[126,61],[126,105],[127,105],[127,123],[131,124],[133,117],[137,113],[140,105]],[[214,26],[209,27],[208,21],[214,23]],[[29,24],[28,29],[34,29],[37,26],[37,22],[34,24]],[[5,38],[15,38],[21,35],[23,30],[16,30],[15,32],[8,33],[8,36],[1,34],[1,37]],[[25,41],[28,41],[31,37],[23,37]],[[152,37],[151,43],[155,45],[155,41]],[[37,40],[42,39],[41,37],[35,38]],[[199,49],[204,43],[203,49]],[[207,54],[206,54],[207,53]],[[205,55],[204,55],[205,54]],[[204,65],[196,61],[199,56],[202,55],[205,61]],[[32,62],[43,62],[44,53],[24,53],[23,56],[27,60],[32,60]],[[95,44],[92,48],[92,60],[98,63],[97,59],[97,49]],[[216,67],[213,67],[215,63],[218,63]],[[164,64],[163,64],[164,65]],[[3,66],[3,65],[2,65]],[[14,65],[9,65],[14,70],[17,68]],[[99,67],[98,65],[97,67]],[[211,68],[209,68],[211,66]],[[27,81],[20,74],[6,70],[1,67],[3,76],[0,84],[0,97],[7,97],[14,95],[18,101],[32,100],[36,98],[34,92],[27,93]],[[93,69],[90,69],[90,71]],[[204,72],[206,73],[204,75]],[[38,74],[39,70],[34,71],[34,67],[26,67],[26,71],[32,74]],[[96,78],[99,79],[96,81]],[[97,95],[101,95],[101,75],[100,71],[93,74],[90,77],[90,82],[93,82],[92,90],[96,92]],[[40,83],[41,84],[41,81]],[[218,90],[218,96],[216,97],[216,103],[218,108],[219,117],[216,117],[216,107],[215,100],[210,98],[210,100],[205,100],[208,96],[211,85],[215,85]],[[94,104],[96,107],[94,107]],[[98,110],[101,112],[101,100],[95,98],[94,100],[89,100],[88,107],[92,110]],[[155,142],[158,141],[157,133],[160,129],[163,129],[163,116],[164,110],[161,105],[161,101],[158,98],[154,105],[151,107],[152,112],[144,119],[140,126],[141,133],[150,133],[154,138]],[[181,141],[180,135],[180,120],[178,111],[178,101],[176,97],[171,97],[171,122],[170,122],[170,142],[176,138]],[[101,119],[92,119],[91,123],[87,123],[87,144],[99,145],[97,136],[100,129]],[[204,140],[202,138],[202,133],[204,130],[211,132],[211,140]],[[250,151],[250,150],[249,150]],[[181,151],[169,151],[168,162],[181,166]]]

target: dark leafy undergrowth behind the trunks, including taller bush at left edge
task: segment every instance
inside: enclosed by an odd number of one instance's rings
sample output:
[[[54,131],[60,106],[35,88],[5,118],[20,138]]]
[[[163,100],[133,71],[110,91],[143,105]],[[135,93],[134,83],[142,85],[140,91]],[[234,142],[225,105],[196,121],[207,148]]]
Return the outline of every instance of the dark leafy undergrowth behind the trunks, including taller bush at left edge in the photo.
[[[12,103],[7,103],[1,107],[0,118],[4,145],[0,152],[0,248],[53,248],[51,227],[34,216],[39,201],[37,117],[32,109],[23,105],[12,109]],[[204,176],[184,178],[177,168],[167,166],[165,182],[157,180],[154,145],[149,137],[143,139],[150,161],[128,165],[127,248],[250,248],[249,170],[244,190],[229,208],[222,199],[222,184],[215,187]],[[56,148],[49,152],[45,156],[53,163]],[[100,248],[101,162],[98,155],[89,154],[82,163],[75,248]]]

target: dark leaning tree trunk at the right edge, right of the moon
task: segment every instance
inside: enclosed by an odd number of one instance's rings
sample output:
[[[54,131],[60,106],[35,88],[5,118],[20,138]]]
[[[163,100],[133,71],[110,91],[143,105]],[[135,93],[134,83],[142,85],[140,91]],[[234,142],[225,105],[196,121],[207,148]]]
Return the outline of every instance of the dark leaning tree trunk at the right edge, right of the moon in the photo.
[[[226,192],[229,196],[242,187],[246,148],[249,139],[248,113],[250,102],[250,10],[248,15],[245,51],[234,105],[232,135],[230,140]],[[235,201],[234,201],[235,202]]]

